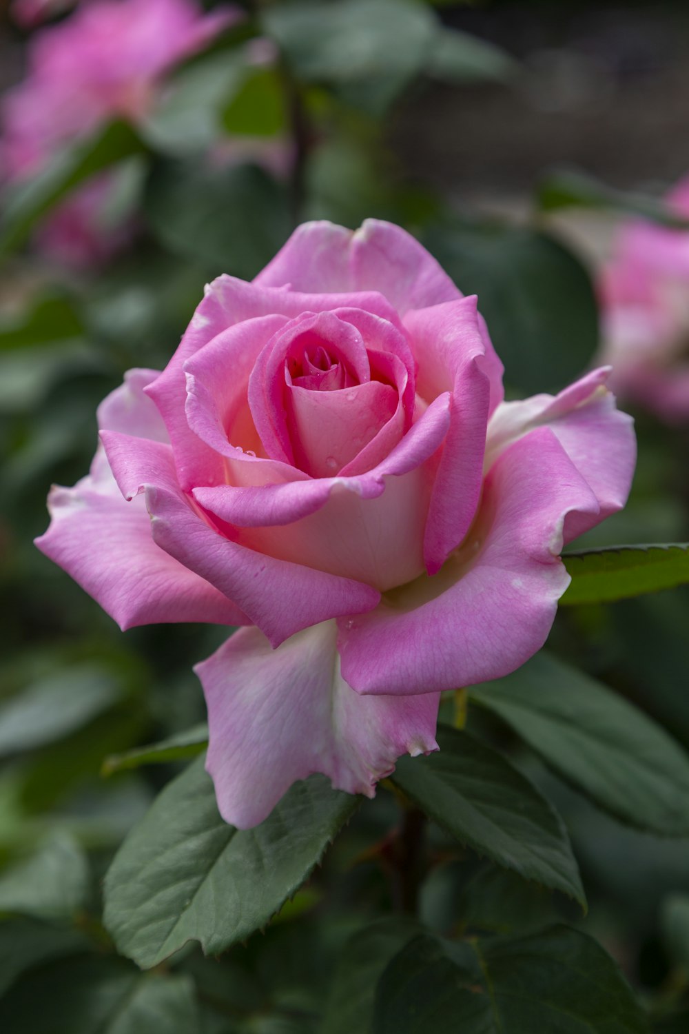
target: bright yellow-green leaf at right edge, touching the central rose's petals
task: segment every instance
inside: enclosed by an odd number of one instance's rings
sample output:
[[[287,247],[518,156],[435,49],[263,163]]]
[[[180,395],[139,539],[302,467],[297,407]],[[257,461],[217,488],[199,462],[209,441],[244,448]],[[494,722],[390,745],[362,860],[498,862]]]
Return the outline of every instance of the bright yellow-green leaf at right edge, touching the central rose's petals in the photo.
[[[615,546],[566,553],[571,584],[564,606],[612,603],[689,583],[689,543]]]

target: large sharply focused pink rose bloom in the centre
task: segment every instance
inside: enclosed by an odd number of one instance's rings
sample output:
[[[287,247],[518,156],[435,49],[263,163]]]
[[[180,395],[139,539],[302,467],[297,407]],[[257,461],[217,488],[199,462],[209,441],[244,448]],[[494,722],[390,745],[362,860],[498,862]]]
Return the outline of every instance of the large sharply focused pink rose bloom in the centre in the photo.
[[[307,223],[102,402],[37,545],[123,629],[246,626],[196,668],[228,822],[314,771],[373,796],[437,750],[441,691],[539,649],[563,544],[624,505],[606,375],[503,402],[476,299],[413,238]]]

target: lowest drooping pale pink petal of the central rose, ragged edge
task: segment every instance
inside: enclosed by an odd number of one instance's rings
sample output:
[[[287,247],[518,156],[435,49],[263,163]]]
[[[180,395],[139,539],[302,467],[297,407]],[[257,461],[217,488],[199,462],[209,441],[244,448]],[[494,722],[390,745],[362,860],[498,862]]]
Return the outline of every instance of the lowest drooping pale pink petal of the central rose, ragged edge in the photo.
[[[373,797],[401,754],[438,749],[440,695],[358,696],[339,674],[336,636],[327,621],[273,650],[257,629],[245,629],[196,665],[209,710],[207,768],[226,822],[256,825],[312,772]]]

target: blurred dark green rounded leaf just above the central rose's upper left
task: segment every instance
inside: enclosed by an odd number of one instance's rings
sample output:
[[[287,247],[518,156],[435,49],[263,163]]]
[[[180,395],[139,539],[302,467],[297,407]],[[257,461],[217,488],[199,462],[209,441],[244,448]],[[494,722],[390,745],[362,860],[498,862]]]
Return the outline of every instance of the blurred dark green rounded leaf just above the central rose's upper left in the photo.
[[[160,162],[148,184],[145,211],[170,250],[215,273],[246,279],[273,257],[290,231],[286,191],[253,165]]]

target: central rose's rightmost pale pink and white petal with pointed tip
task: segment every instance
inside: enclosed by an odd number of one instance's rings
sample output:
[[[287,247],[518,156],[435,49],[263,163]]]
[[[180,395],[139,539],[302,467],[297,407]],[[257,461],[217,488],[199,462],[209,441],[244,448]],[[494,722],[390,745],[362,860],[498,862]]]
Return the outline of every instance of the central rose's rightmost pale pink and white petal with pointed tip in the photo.
[[[550,427],[598,499],[598,514],[571,515],[565,543],[621,510],[627,501],[636,459],[633,420],[621,413],[605,387],[609,367],[587,373],[557,396],[535,395],[503,402],[489,424],[486,469],[511,443]]]

